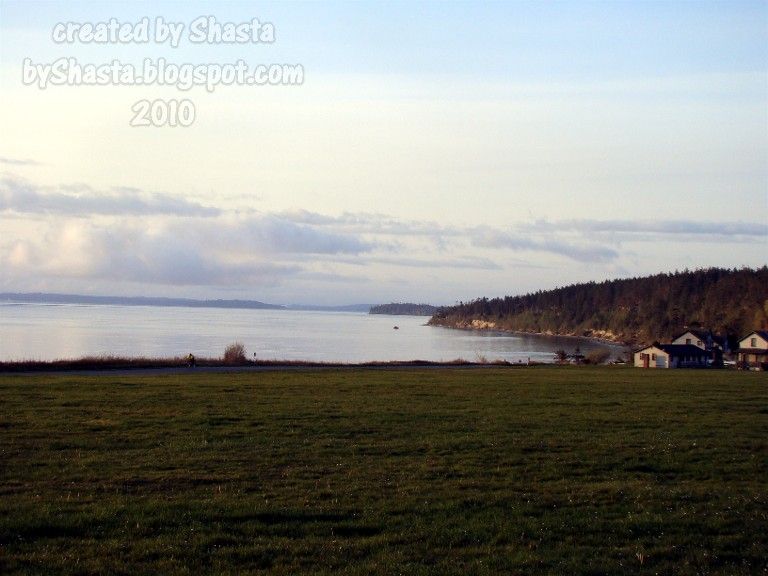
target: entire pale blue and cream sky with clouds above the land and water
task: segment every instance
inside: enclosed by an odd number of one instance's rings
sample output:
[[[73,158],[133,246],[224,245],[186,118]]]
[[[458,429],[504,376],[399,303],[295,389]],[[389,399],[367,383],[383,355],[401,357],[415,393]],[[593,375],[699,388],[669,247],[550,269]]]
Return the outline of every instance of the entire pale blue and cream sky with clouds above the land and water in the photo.
[[[201,16],[258,41],[192,42]],[[62,58],[302,75],[25,76]],[[452,304],[767,255],[765,1],[0,0],[0,292]]]

